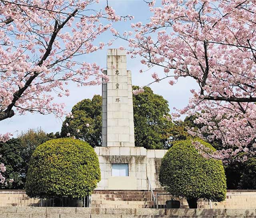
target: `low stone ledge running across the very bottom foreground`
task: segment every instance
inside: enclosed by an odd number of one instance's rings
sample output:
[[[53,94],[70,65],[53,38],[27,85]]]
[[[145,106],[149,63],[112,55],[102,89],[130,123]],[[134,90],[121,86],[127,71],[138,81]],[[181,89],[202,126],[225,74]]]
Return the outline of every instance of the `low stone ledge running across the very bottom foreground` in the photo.
[[[98,215],[98,216],[96,216]],[[116,215],[116,216],[112,216]],[[122,215],[122,216],[121,216]],[[126,216],[123,216],[126,215]],[[0,207],[0,218],[256,218],[255,209]]]

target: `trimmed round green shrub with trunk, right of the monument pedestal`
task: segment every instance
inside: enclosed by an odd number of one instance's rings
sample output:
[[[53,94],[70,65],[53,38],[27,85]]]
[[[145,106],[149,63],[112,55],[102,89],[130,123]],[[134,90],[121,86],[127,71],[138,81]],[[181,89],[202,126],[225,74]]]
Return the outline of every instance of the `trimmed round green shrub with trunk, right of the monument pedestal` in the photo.
[[[200,139],[196,141],[215,150]],[[197,208],[199,198],[220,202],[226,197],[226,177],[222,162],[203,157],[190,139],[175,142],[164,155],[159,180],[167,192],[186,198],[190,208]]]

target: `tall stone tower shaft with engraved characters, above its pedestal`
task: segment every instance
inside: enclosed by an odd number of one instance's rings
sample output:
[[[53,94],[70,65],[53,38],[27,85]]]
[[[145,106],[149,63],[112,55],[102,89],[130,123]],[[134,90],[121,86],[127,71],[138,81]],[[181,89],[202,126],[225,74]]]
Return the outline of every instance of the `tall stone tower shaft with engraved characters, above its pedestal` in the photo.
[[[102,84],[102,146],[134,147],[131,71],[126,68],[126,52],[108,49],[109,81]]]

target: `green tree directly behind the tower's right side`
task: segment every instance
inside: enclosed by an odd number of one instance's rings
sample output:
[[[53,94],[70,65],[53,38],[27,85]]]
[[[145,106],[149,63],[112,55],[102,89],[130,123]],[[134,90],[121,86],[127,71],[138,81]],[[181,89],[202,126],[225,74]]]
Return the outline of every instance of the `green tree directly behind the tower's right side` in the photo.
[[[138,89],[133,86],[133,89]],[[150,87],[133,95],[135,145],[146,149],[168,147],[168,129],[172,126],[168,101],[154,94]]]

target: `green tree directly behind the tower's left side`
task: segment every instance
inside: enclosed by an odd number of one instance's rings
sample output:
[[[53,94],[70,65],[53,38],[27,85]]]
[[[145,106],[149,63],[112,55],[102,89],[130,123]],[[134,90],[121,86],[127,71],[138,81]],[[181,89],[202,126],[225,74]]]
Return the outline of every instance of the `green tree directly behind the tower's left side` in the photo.
[[[67,133],[88,142],[92,147],[101,146],[102,128],[102,97],[94,95],[91,99],[84,99],[72,108],[74,118],[66,117],[62,124],[61,137],[66,137]],[[66,123],[69,124],[66,127]],[[86,127],[89,124],[89,127]],[[79,133],[77,130],[79,129]]]

